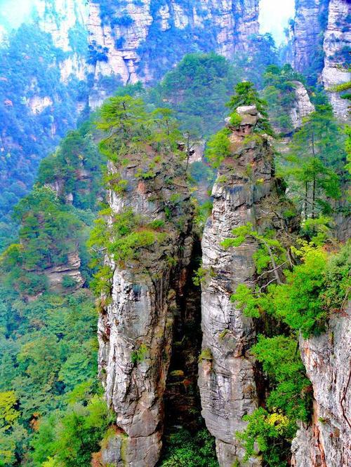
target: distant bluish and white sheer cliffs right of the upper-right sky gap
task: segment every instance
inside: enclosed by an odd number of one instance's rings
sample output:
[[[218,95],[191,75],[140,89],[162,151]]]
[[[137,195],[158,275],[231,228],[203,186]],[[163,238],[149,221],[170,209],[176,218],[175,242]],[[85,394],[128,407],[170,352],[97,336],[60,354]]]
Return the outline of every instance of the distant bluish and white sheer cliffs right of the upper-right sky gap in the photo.
[[[298,0],[293,22],[293,66],[309,83],[322,81],[340,119],[347,100],[333,86],[350,81],[350,15],[347,0]]]

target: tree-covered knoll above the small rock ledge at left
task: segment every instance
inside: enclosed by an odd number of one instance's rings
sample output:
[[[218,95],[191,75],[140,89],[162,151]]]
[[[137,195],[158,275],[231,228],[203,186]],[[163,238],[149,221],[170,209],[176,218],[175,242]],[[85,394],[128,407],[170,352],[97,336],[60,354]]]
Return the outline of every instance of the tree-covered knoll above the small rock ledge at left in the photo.
[[[20,243],[1,255],[1,270],[6,283],[14,283],[26,295],[37,295],[47,288],[45,269],[67,264],[77,243],[84,243],[85,226],[48,187],[34,187],[15,207],[14,217],[21,222]]]

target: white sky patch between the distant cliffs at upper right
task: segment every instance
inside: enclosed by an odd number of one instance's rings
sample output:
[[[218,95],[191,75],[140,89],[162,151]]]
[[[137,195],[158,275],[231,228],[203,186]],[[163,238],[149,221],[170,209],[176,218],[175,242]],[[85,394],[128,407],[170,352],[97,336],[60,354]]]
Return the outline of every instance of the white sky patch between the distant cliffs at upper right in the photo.
[[[293,18],[295,0],[260,0],[261,32],[271,32],[277,45],[284,39],[284,27]]]

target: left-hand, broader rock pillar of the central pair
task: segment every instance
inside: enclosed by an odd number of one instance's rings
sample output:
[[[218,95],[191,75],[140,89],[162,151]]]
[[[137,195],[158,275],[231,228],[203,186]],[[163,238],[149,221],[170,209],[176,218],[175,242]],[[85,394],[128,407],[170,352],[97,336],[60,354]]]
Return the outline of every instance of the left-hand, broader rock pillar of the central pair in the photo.
[[[154,156],[149,148],[147,160]],[[116,215],[133,210],[140,220],[138,232],[157,220],[160,227],[157,239],[138,257],[107,259],[112,293],[99,318],[99,368],[117,431],[102,449],[105,465],[152,467],[159,459],[173,322],[192,252],[192,207],[183,165],[168,155],[154,162],[148,181],[140,177],[143,164],[145,156],[130,154],[128,164],[118,168],[128,181],[127,191],[108,196],[111,225]],[[109,171],[117,167],[110,163]]]

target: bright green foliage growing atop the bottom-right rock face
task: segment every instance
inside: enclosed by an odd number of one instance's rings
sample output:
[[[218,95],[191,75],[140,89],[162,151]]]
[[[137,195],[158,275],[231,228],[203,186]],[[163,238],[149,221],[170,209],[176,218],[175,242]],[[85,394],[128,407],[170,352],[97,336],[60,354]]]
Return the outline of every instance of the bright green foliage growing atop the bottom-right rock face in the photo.
[[[331,313],[345,306],[350,287],[350,246],[345,245],[338,255],[328,255],[322,247],[304,243],[295,250],[300,263],[291,271],[284,271],[285,283],[270,284],[267,292],[249,290],[240,285],[232,296],[249,316],[269,313],[300,331],[304,337],[318,334]],[[338,266],[334,266],[338,264]]]

